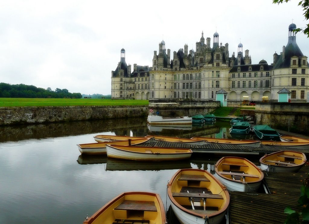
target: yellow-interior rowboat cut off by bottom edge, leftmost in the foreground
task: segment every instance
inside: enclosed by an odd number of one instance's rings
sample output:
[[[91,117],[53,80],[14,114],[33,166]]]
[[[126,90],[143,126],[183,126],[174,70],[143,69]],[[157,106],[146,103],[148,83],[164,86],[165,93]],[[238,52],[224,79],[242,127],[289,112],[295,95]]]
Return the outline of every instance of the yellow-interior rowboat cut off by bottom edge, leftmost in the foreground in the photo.
[[[113,198],[83,224],[166,224],[162,199],[157,193],[124,192]]]

